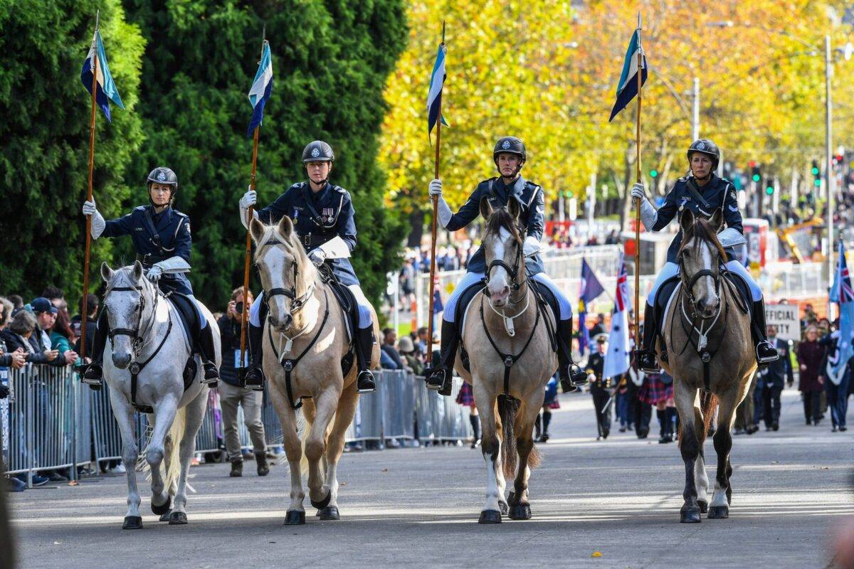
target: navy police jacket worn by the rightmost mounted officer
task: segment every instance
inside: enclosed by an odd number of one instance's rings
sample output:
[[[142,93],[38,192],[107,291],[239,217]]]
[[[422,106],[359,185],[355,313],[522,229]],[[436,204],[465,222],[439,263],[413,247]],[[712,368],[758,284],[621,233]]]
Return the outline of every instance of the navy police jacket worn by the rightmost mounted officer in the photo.
[[[689,189],[689,184],[693,185],[699,196],[705,200],[705,205],[697,199],[696,195],[693,195]],[[691,210],[694,215],[708,219],[719,207],[723,208],[723,219],[727,227],[738,229],[739,233],[743,234],[745,231],[741,225],[741,212],[739,211],[738,200],[736,200],[735,188],[729,180],[711,174],[709,182],[700,186],[693,176],[681,177],[673,184],[670,194],[664,198],[664,204],[658,208],[658,218],[652,225],[652,231],[664,229],[673,218],[681,216],[681,212],[686,209]],[[679,253],[681,243],[682,231],[680,229],[667,250],[667,261],[669,263],[676,263],[676,256]],[[728,261],[734,259],[732,247],[729,247],[726,253]]]

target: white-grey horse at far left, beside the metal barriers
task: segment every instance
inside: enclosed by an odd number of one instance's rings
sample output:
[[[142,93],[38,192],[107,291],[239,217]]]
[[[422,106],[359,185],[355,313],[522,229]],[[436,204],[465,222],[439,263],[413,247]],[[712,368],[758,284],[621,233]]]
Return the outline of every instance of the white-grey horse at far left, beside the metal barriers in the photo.
[[[101,276],[107,282],[102,310],[107,311],[110,328],[103,358],[104,379],[119,423],[121,458],[127,470],[127,514],[122,527],[143,527],[135,470],[139,455],[134,429],[137,407],[153,410],[147,414],[153,432],[145,451],[151,467],[151,511],[170,525],[186,524],[187,474],[208,405],[208,389],[201,383],[201,361],[196,357],[196,377],[184,390],[183,371],[191,342],[183,333],[173,304],[143,277],[142,264],[137,261],[111,270],[104,263]],[[208,322],[213,322],[208,308],[201,308]],[[219,366],[219,328],[215,326],[213,339]],[[132,385],[134,370],[136,386]]]

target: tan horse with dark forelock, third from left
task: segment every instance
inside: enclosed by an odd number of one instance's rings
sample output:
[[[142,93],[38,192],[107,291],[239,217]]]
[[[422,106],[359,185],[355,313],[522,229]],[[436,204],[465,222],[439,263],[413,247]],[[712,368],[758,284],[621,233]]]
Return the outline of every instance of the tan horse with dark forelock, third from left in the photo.
[[[500,523],[501,514],[512,520],[531,517],[528,479],[530,469],[539,464],[534,421],[545,386],[558,369],[547,331],[554,329],[554,318],[551,311],[541,310],[529,286],[518,203],[510,200],[508,207],[493,211],[488,201],[481,202],[481,214],[487,219],[483,235],[487,285],[466,309],[462,343],[469,348],[471,372],[459,354],[455,363],[471,383],[483,425],[487,492],[482,524]],[[515,476],[507,501],[505,476]]]

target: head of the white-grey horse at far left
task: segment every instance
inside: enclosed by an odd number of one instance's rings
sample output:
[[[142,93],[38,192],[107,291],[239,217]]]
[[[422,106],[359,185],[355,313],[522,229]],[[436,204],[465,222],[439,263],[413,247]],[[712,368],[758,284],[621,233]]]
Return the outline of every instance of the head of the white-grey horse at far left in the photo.
[[[101,277],[107,283],[103,310],[107,311],[113,363],[116,368],[127,369],[142,347],[143,322],[153,317],[157,292],[143,276],[139,261],[119,270],[102,263]]]

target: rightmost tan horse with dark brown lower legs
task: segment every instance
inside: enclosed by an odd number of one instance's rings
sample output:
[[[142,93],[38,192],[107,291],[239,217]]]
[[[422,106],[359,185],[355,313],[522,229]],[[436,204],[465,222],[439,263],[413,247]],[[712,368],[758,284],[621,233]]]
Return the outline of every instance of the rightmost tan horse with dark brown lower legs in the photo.
[[[674,378],[674,397],[681,422],[685,503],[680,520],[686,523],[699,522],[706,508],[710,519],[729,515],[732,496],[729,477],[733,472],[729,464],[729,450],[733,446],[729,431],[735,409],[745,398],[757,368],[750,315],[741,308],[743,302],[734,285],[722,276],[727,258],[717,241],[722,221],[720,209],[708,222],[694,218],[690,210],[682,213],[678,258],[681,282],[663,319],[668,355],[662,366]],[[660,342],[658,351],[661,352]],[[703,443],[716,405],[719,405],[714,436],[717,475],[709,502]]]

